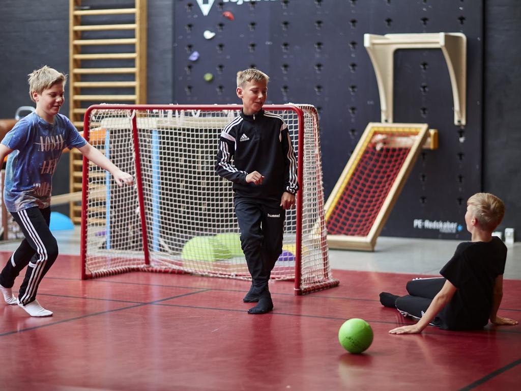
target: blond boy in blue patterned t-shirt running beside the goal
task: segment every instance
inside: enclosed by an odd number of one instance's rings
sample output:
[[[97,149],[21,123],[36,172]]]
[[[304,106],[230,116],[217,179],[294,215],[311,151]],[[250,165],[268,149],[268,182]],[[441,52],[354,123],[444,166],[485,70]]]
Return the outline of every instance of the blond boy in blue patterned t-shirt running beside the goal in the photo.
[[[29,75],[29,95],[36,110],[18,121],[0,144],[0,162],[8,155],[4,203],[25,236],[0,274],[0,291],[8,304],[18,303],[31,316],[53,314],[36,301],[36,292],[58,255],[49,219],[52,177],[64,148],[78,148],[86,158],[110,172],[118,186],[133,184],[131,175],[112,164],[81,137],[66,116],[58,114],[65,101],[66,81],[66,75],[47,66],[33,71]],[[17,299],[11,288],[26,266]]]

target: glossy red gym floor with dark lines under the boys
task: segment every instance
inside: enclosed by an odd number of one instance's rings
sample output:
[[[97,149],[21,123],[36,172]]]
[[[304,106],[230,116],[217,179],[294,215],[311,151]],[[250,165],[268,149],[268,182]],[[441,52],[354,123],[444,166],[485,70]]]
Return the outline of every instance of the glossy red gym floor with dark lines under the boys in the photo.
[[[2,265],[10,253],[0,253]],[[411,275],[333,271],[338,288],[295,297],[270,285],[275,309],[249,315],[248,282],[130,273],[82,281],[78,256],[60,255],[44,278],[43,319],[0,304],[0,389],[7,390],[426,390],[518,389],[521,325],[479,332],[409,323],[378,302]],[[21,277],[19,277],[21,278]],[[19,284],[21,281],[17,281]],[[15,285],[18,287],[18,285]],[[521,280],[505,280],[500,313],[521,320]],[[15,289],[16,290],[16,289]],[[345,352],[338,328],[373,327],[373,345]]]

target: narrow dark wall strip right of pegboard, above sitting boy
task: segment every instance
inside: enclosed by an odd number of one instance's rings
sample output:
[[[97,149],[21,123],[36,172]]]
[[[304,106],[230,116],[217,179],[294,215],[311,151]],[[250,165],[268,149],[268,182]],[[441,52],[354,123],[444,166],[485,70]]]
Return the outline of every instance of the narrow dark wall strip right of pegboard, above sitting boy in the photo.
[[[483,189],[506,204],[500,228],[521,238],[521,2],[485,3]]]

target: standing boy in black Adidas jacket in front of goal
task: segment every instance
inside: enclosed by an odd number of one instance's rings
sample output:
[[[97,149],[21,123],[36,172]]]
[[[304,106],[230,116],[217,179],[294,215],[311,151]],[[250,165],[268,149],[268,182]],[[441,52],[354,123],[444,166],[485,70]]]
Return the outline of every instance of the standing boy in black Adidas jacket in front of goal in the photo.
[[[258,302],[251,314],[273,309],[268,281],[282,252],[286,209],[295,205],[299,189],[287,125],[262,109],[267,84],[268,76],[257,69],[238,72],[237,96],[243,108],[221,133],[215,165],[217,174],[233,182],[241,247],[252,276],[243,301]]]

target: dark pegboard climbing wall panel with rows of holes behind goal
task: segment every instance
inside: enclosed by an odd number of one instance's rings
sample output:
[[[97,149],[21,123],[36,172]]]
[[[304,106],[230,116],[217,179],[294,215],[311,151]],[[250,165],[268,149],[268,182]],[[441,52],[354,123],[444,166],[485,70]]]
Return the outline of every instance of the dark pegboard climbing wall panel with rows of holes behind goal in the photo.
[[[267,103],[318,108],[326,196],[367,123],[380,120],[364,33],[464,33],[465,127],[453,122],[442,52],[395,53],[394,121],[428,123],[438,129],[440,147],[421,154],[382,235],[468,236],[466,199],[481,190],[481,0],[179,0],[174,8],[175,101],[240,104],[237,71],[263,70]]]

